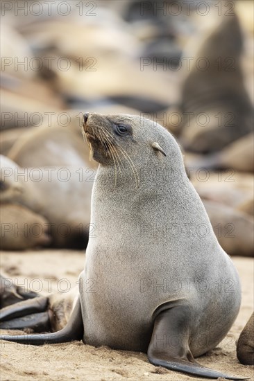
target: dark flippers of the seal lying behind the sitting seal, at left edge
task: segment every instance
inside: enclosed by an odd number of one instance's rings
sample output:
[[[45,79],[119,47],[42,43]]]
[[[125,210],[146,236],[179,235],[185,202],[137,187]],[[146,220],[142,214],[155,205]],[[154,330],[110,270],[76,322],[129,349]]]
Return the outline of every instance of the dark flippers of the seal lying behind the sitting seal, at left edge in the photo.
[[[0,310],[1,329],[33,328],[37,333],[51,330],[49,299],[39,296],[8,305]]]

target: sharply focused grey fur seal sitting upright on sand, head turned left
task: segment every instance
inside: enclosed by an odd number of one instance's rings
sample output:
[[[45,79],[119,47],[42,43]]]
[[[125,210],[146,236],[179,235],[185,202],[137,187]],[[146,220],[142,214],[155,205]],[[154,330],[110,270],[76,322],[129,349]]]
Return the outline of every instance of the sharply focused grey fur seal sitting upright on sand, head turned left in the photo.
[[[157,123],[125,114],[85,114],[84,132],[99,162],[91,212],[96,237],[87,246],[74,311],[58,333],[1,339],[33,345],[83,339],[146,351],[151,364],[174,371],[243,379],[194,360],[228,333],[241,287],[175,139]],[[186,224],[190,233],[176,234]],[[201,225],[207,233],[192,230]]]

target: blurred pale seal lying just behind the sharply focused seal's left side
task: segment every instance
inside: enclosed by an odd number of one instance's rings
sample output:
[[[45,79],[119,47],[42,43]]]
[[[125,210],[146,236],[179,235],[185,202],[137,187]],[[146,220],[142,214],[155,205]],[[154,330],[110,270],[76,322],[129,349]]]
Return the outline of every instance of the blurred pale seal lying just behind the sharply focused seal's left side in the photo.
[[[8,157],[0,155],[0,158],[0,201],[17,202],[31,209],[32,214],[39,213],[46,218],[43,229],[49,230],[52,246],[85,248],[96,170],[87,168],[85,163],[82,167],[20,168]],[[2,222],[7,220],[8,206]]]

